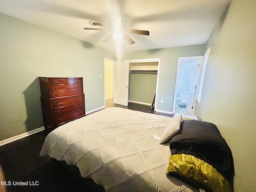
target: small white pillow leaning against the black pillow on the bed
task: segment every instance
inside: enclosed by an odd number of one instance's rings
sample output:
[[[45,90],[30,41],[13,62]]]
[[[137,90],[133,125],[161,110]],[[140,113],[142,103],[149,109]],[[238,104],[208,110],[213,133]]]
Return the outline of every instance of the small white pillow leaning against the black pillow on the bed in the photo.
[[[180,124],[182,122],[182,115],[172,118],[167,124],[162,136],[160,137],[160,144],[168,142],[174,135],[180,131]]]

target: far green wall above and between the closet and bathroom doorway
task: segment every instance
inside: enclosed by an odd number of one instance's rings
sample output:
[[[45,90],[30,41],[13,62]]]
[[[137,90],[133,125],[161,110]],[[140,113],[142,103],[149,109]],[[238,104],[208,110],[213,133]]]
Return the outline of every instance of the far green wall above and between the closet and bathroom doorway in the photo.
[[[206,45],[192,45],[127,52],[124,59],[160,58],[157,110],[172,112],[178,57],[202,56]],[[163,103],[160,103],[163,100]]]

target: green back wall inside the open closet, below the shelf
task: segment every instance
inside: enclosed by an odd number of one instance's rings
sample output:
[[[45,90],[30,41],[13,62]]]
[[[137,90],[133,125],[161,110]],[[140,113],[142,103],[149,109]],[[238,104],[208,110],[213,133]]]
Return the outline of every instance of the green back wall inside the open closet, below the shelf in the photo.
[[[130,74],[129,100],[152,103],[157,74]]]

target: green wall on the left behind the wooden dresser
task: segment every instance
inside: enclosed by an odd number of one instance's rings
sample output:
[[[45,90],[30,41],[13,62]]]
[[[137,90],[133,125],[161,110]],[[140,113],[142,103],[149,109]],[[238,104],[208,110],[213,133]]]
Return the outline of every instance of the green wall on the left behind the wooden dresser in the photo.
[[[0,140],[44,126],[38,76],[83,77],[86,111],[104,106],[106,50],[0,14]]]

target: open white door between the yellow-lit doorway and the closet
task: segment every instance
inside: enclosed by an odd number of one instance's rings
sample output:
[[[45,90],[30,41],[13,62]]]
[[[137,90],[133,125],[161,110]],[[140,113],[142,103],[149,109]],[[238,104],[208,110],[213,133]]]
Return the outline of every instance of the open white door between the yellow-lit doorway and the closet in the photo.
[[[114,62],[114,103],[128,106],[129,61]]]

